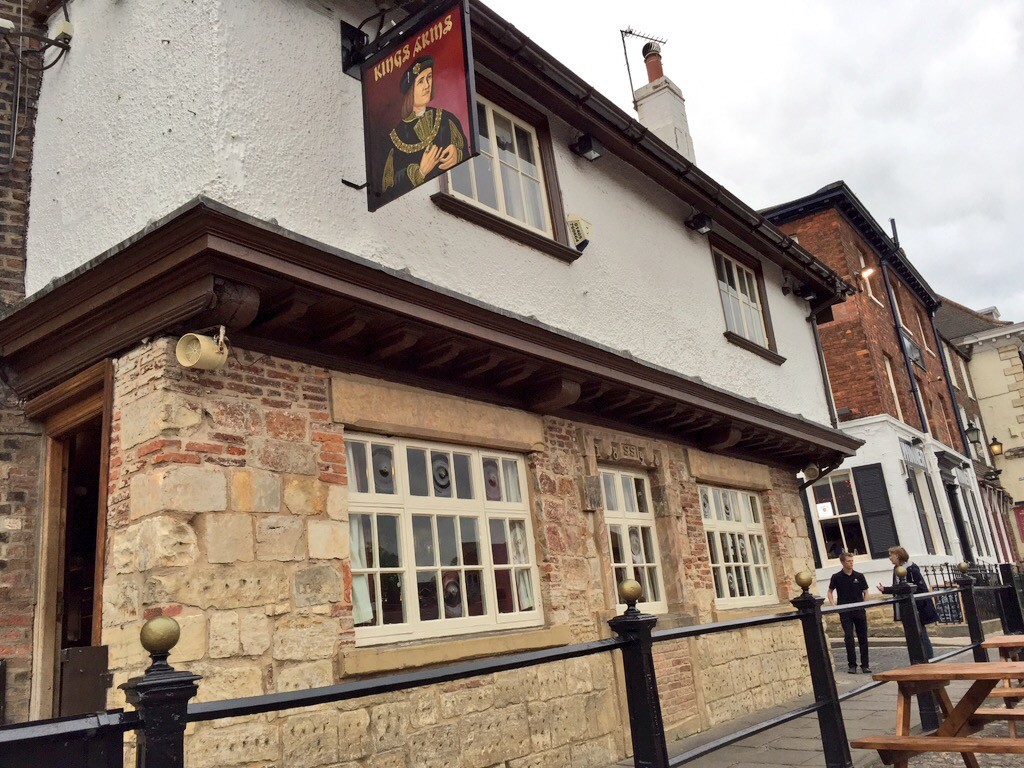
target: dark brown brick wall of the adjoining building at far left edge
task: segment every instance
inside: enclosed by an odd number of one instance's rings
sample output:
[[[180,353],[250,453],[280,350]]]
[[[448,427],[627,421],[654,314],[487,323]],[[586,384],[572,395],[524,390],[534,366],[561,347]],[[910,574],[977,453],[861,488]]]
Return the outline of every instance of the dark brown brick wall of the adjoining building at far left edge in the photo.
[[[22,3],[0,0],[0,17],[19,24]],[[26,19],[27,26],[31,20]],[[36,29],[36,31],[42,31]],[[25,232],[29,209],[32,135],[39,75],[24,72],[13,164],[8,137],[15,89],[14,56],[0,48],[0,310],[25,297]],[[27,96],[27,97],[26,97]],[[32,659],[33,561],[41,506],[42,438],[17,397],[0,382],[0,658],[8,664],[6,720],[29,715]]]

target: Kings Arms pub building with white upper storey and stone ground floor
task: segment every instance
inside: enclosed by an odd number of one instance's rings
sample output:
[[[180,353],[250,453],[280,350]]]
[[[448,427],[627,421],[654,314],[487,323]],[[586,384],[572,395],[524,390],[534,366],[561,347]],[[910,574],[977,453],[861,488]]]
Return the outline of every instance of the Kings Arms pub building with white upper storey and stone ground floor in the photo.
[[[31,105],[27,298],[0,317],[8,717],[123,706],[156,614],[210,700],[606,637],[629,578],[659,627],[790,609],[798,473],[860,444],[809,322],[853,288],[694,163],[658,47],[638,120],[470,3],[471,109],[433,42],[401,120],[453,115],[478,154],[428,134],[371,213],[339,27],[376,6],[70,6],[74,67]],[[659,644],[670,732],[808,691],[802,648],[788,625]],[[187,750],[606,765],[614,664],[198,724]]]

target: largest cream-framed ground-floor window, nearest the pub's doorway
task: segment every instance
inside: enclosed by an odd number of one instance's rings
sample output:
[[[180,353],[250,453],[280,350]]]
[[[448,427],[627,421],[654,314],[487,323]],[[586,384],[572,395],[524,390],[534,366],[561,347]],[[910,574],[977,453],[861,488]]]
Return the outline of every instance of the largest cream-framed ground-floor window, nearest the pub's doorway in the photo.
[[[346,435],[359,644],[540,624],[520,456]]]

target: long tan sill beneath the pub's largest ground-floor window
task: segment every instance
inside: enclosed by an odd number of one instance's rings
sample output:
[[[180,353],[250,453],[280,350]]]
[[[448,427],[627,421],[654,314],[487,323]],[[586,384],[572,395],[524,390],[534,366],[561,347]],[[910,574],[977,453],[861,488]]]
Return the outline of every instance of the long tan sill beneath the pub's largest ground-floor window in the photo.
[[[342,677],[374,675],[502,653],[555,648],[568,645],[571,641],[571,629],[560,626],[450,638],[440,642],[424,640],[401,645],[349,647],[342,650],[339,666]]]

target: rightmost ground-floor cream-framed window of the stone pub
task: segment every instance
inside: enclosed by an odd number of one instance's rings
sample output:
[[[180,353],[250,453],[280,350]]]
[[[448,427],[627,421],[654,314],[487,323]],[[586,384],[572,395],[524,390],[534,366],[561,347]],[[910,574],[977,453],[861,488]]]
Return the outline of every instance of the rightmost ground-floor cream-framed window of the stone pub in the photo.
[[[775,601],[775,581],[756,494],[701,485],[700,514],[720,607]]]

